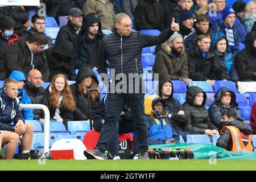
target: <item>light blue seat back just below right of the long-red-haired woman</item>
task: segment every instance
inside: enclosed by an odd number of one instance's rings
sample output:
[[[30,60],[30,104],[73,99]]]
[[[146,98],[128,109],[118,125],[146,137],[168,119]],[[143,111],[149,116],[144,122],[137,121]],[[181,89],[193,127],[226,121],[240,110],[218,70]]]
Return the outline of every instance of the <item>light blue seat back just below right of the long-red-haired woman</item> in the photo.
[[[69,121],[68,131],[74,134],[76,131],[90,131],[90,123],[88,121]]]

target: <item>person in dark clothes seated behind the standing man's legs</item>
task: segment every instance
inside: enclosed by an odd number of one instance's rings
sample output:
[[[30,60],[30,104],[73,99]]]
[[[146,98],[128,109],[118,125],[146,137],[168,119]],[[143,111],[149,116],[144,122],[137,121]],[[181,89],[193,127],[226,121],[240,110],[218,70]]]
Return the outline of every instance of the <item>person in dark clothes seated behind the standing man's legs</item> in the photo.
[[[108,95],[102,98],[100,104],[98,105],[98,109],[93,113],[93,129],[98,132],[101,131],[101,127],[105,122],[105,101],[107,97]],[[126,104],[123,108],[123,111],[120,114],[118,122],[115,125],[112,138],[109,141],[110,157],[113,158],[113,160],[120,159],[118,154],[118,134],[127,134],[133,132],[134,130],[135,122],[131,117],[131,110],[129,106]]]

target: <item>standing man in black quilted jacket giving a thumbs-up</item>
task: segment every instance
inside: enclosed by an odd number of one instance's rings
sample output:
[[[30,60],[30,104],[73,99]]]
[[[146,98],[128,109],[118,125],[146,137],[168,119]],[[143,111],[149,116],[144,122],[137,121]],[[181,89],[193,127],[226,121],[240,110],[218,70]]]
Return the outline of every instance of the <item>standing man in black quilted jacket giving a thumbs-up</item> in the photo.
[[[118,73],[122,76],[122,86],[121,90],[113,90],[113,86],[110,85],[110,93],[108,94],[106,100],[106,119],[105,123],[101,129],[101,136],[98,139],[98,144],[96,150],[85,151],[84,154],[89,159],[104,159],[103,152],[108,148],[108,142],[112,136],[115,123],[123,109],[125,100],[129,105],[134,121],[136,121],[136,131],[138,134],[139,143],[139,159],[148,159],[148,131],[144,118],[144,93],[142,92],[141,85],[142,79],[139,74],[142,75],[142,63],[141,63],[141,53],[143,47],[154,46],[156,44],[162,44],[166,42],[168,38],[174,33],[174,31],[179,31],[179,24],[172,20],[172,25],[168,30],[164,31],[159,36],[152,36],[141,34],[140,32],[131,32],[131,19],[129,15],[121,13],[117,14],[115,18],[115,31],[106,35],[100,43],[101,55],[98,59],[98,71],[99,73],[105,73],[104,77],[107,78],[107,64],[108,59],[112,77],[112,83],[115,83],[115,76]],[[115,72],[113,74],[113,72]],[[136,73],[136,74],[135,74]],[[135,77],[134,77],[135,74]],[[103,76],[103,75],[101,75]],[[128,82],[135,84],[135,89],[139,86],[137,93],[134,93],[134,87],[129,87],[129,93],[127,92],[127,80]],[[134,79],[135,78],[135,82]],[[130,83],[130,84],[131,84]],[[106,83],[105,85],[107,85]],[[118,84],[117,84],[118,86]],[[120,92],[121,91],[121,92]]]

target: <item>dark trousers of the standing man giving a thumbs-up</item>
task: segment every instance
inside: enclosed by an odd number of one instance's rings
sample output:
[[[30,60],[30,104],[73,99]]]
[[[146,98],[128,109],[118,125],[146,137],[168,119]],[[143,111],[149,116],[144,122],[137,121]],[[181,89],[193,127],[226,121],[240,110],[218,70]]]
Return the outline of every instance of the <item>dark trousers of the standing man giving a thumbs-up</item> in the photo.
[[[133,121],[136,123],[139,151],[148,150],[148,130],[144,118],[144,93],[109,93],[105,102],[105,122],[101,128],[101,135],[96,148],[101,152],[108,149],[108,143],[112,137],[119,115],[125,102],[131,109]]]

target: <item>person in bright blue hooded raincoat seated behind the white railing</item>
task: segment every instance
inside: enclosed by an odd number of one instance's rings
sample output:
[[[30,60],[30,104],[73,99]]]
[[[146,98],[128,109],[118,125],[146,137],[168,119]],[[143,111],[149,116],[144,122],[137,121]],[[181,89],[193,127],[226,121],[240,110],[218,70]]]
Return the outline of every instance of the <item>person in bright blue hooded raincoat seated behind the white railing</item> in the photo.
[[[28,97],[25,89],[24,84],[26,83],[26,78],[24,76],[24,73],[20,71],[13,71],[11,72],[10,78],[13,78],[14,80],[18,81],[18,96],[19,99],[18,104],[31,104],[30,97]],[[17,100],[18,101],[18,100]],[[33,120],[34,114],[32,109],[22,109],[21,110],[23,117],[25,120]]]

